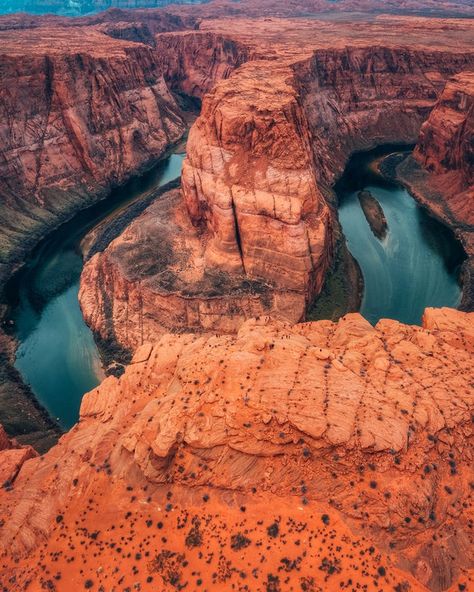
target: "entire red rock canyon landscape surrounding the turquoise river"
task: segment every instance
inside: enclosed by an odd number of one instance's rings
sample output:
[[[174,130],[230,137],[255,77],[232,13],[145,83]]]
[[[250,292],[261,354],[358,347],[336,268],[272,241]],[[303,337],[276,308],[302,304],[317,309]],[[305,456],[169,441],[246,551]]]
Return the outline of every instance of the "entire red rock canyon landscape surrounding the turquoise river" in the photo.
[[[0,17],[0,589],[474,589],[472,6],[377,6]],[[462,310],[308,322],[338,261],[361,307],[336,187],[383,145],[462,244]],[[58,228],[108,374],[64,434],[12,315]]]

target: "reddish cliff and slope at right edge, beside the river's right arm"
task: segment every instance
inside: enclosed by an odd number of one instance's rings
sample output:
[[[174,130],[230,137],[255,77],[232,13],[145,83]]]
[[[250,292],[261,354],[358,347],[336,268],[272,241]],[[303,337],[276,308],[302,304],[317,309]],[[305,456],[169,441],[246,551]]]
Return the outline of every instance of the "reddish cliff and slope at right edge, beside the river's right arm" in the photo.
[[[462,306],[474,306],[474,71],[454,76],[398,167],[417,199],[452,227],[468,259]]]

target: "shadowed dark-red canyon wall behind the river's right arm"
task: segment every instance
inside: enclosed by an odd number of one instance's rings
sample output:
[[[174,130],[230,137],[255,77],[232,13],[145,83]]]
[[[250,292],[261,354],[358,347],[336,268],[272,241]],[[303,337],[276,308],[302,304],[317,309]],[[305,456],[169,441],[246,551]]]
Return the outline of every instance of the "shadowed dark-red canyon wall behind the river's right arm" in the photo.
[[[472,53],[400,47],[315,51],[296,69],[318,180],[332,184],[348,157],[383,143],[414,143],[454,73]]]

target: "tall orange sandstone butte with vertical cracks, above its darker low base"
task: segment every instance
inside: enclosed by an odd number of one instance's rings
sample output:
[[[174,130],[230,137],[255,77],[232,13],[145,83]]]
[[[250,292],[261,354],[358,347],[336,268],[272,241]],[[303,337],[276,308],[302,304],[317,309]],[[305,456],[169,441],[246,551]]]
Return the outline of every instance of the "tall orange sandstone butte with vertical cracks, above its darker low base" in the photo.
[[[190,132],[182,183],[193,224],[209,236],[209,266],[304,301],[327,266],[331,213],[290,76],[285,66],[253,62],[219,84]]]

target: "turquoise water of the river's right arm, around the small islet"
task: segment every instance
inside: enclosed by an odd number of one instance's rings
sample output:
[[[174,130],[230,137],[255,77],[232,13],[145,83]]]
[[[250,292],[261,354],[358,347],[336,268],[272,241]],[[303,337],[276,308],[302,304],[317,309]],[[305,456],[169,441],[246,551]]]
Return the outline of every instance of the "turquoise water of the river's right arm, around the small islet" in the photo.
[[[339,220],[364,276],[361,313],[371,323],[390,318],[420,324],[427,306],[458,306],[463,251],[402,186],[373,173],[370,161],[370,156],[355,158],[338,190]],[[383,208],[388,223],[383,240],[374,236],[360,207],[361,189]]]

